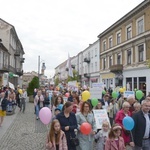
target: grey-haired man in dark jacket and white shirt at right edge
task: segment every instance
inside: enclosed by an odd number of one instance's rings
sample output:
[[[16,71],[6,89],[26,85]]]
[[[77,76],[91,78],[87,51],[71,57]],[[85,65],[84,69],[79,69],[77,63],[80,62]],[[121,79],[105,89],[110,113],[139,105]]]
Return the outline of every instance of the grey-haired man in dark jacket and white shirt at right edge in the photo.
[[[134,128],[132,130],[134,150],[150,150],[150,101],[143,100],[142,108],[133,115]]]

